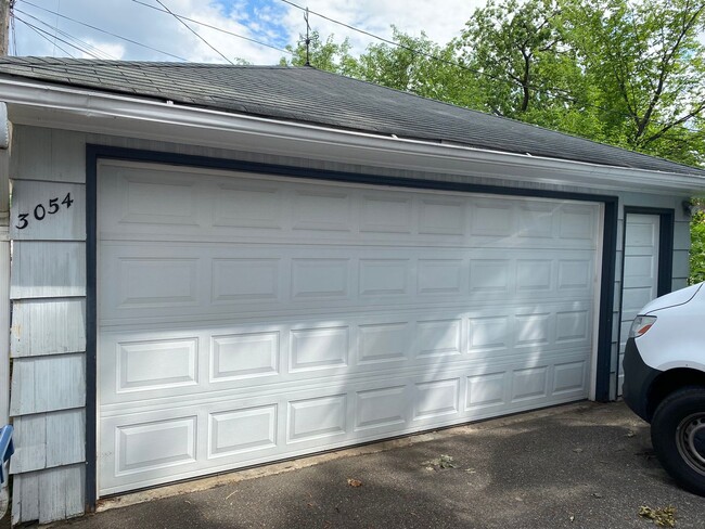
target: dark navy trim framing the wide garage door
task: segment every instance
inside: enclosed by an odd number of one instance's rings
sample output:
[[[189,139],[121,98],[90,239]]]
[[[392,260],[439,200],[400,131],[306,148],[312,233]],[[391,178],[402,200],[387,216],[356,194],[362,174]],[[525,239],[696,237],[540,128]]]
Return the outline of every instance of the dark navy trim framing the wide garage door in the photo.
[[[548,190],[529,190],[521,188],[500,188],[493,185],[475,185],[457,182],[439,182],[421,179],[379,177],[374,175],[356,175],[341,171],[320,169],[304,169],[297,167],[257,164],[232,159],[210,158],[182,154],[140,151],[132,149],[111,147],[89,144],[86,146],[86,230],[87,230],[87,307],[86,307],[86,507],[94,511],[98,500],[97,470],[97,334],[98,334],[98,162],[101,158],[124,159],[131,162],[150,162],[158,164],[180,165],[207,169],[226,169],[255,173],[278,175],[291,178],[320,179],[338,182],[375,184],[397,188],[427,189],[440,191],[458,191],[463,193],[488,193],[496,195],[535,196],[540,198],[563,198],[602,203],[604,205],[604,231],[602,234],[602,281],[600,286],[600,323],[598,333],[598,370],[595,379],[595,398],[599,401],[610,400],[610,360],[612,350],[612,321],[614,308],[614,280],[617,241],[617,205],[616,196],[591,195],[588,193],[565,193]]]

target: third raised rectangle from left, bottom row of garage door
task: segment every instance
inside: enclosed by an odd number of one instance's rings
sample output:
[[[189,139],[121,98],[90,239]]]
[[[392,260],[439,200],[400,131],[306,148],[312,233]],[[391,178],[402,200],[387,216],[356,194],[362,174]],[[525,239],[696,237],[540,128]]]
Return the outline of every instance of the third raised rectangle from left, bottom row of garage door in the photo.
[[[345,395],[289,403],[289,441],[339,436],[346,431]]]

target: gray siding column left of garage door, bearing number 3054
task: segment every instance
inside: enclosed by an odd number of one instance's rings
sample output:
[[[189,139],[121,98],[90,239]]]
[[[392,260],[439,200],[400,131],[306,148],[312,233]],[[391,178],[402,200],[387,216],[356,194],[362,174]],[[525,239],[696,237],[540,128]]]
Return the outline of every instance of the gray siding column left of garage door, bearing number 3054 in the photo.
[[[46,524],[82,514],[86,501],[86,145],[59,130],[17,130],[10,160],[12,520]]]

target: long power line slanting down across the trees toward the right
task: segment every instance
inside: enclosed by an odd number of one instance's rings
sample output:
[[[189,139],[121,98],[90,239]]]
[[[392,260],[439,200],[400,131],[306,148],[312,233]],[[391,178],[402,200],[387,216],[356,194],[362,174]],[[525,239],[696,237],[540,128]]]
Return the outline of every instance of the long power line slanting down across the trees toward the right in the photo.
[[[133,0],[133,1],[137,1],[137,0]],[[401,48],[402,50],[410,51],[411,53],[414,53],[416,55],[425,56],[426,59],[431,59],[432,61],[436,61],[436,62],[446,64],[448,66],[460,68],[460,69],[463,69],[465,72],[470,72],[471,74],[475,74],[475,75],[485,77],[487,79],[491,79],[493,81],[503,82],[505,85],[512,85],[514,87],[523,87],[524,86],[524,85],[517,82],[514,79],[505,79],[505,78],[502,78],[502,77],[497,77],[497,76],[493,76],[491,74],[488,74],[487,72],[483,72],[483,70],[479,70],[479,69],[475,69],[475,68],[470,68],[470,67],[465,66],[464,64],[460,64],[460,63],[457,63],[454,61],[449,61],[447,59],[443,59],[443,57],[439,57],[437,55],[433,55],[431,53],[426,53],[424,51],[416,50],[414,48],[402,44],[400,42],[396,42],[394,40],[389,40],[389,39],[386,39],[384,37],[380,37],[379,35],[372,34],[372,33],[367,31],[364,29],[360,29],[358,27],[351,26],[351,25],[346,24],[344,22],[336,21],[335,18],[331,18],[330,16],[326,16],[326,15],[324,15],[322,13],[311,11],[308,8],[304,8],[303,5],[298,5],[297,3],[292,2],[291,0],[281,0],[281,1],[289,4],[289,5],[292,5],[293,8],[298,9],[300,11],[304,11],[306,13],[312,13],[312,14],[315,14],[317,16],[320,16],[321,18],[326,20],[329,22],[332,22],[333,24],[337,24],[339,26],[346,27],[346,28],[348,28],[348,29],[350,29],[352,31],[357,31],[357,33],[360,33],[362,35],[367,35],[368,37],[372,37],[373,39],[380,40],[380,41],[385,42],[387,44],[392,44],[394,47]],[[576,99],[575,96],[573,96],[569,92],[566,92],[565,90],[560,89],[560,88],[537,86],[537,85],[530,85],[530,83],[527,83],[526,87],[534,90],[534,91],[536,91],[536,92],[538,92],[538,93],[542,93],[543,95],[548,95],[550,98],[556,98],[556,99],[560,99],[560,100],[565,101],[567,103],[572,103],[574,105],[588,107],[588,108],[594,108],[594,109],[602,111],[602,112],[605,112],[607,114],[612,114],[612,115],[624,117],[624,118],[630,118],[630,119],[633,118],[633,116],[631,116],[629,114],[626,114],[626,113],[623,113],[623,112],[614,111],[612,108],[605,108],[603,106],[595,105],[593,103],[588,103],[588,102],[580,101],[580,100]],[[652,122],[655,124],[655,125],[664,126],[664,127],[668,125],[666,122],[658,121],[658,120],[655,120],[655,119],[652,119]]]

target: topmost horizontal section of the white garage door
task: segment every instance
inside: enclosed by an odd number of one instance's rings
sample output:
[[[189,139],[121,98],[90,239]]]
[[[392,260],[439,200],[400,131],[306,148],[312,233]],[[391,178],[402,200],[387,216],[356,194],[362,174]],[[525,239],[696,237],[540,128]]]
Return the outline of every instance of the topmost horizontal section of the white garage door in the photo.
[[[159,186],[164,192],[159,192]],[[102,240],[151,235],[174,240],[311,236],[341,244],[471,244],[594,249],[592,206],[540,198],[459,197],[458,193],[374,193],[355,184],[283,180],[218,171],[101,167]],[[118,197],[118,199],[115,199]]]

